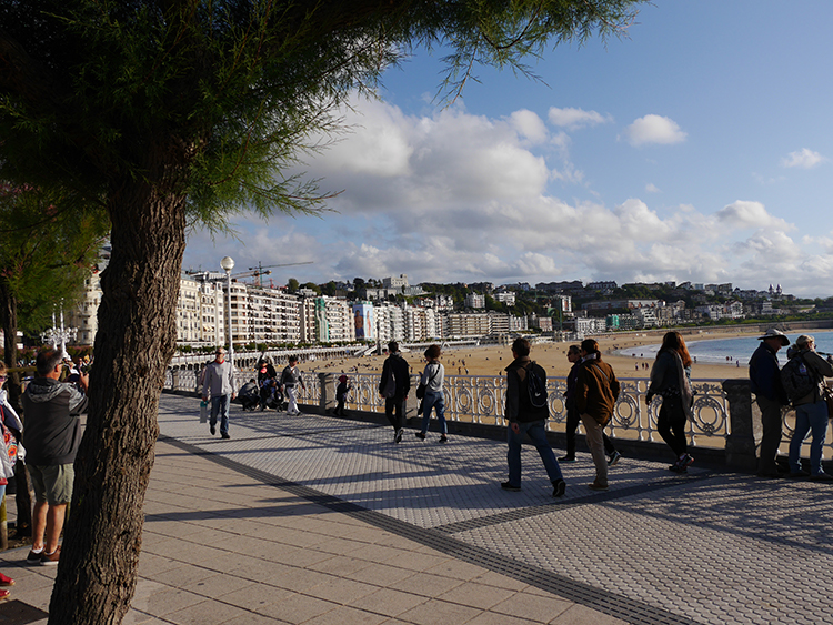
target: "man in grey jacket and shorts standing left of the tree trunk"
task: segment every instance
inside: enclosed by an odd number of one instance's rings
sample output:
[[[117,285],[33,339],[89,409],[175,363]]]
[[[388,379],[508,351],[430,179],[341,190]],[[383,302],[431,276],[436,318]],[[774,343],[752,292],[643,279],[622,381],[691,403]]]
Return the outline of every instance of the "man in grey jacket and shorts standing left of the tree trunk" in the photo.
[[[78,386],[60,382],[63,363],[57,350],[36,359],[38,376],[23,393],[27,466],[34,487],[32,550],[28,564],[54,566],[61,555],[58,538],[67,504],[72,500],[72,463],[81,443],[81,421],[87,412],[89,376],[79,372]],[[80,389],[79,389],[80,386]]]

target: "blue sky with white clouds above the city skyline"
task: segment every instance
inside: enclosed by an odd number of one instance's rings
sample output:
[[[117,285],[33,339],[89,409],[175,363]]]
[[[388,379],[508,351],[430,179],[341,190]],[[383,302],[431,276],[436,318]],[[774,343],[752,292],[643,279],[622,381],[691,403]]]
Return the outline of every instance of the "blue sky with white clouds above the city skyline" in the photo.
[[[184,269],[275,285],[732,282],[833,295],[833,2],[642,4],[628,36],[562,44],[540,80],[476,68],[441,102],[418,51],[305,160],[320,216],[190,233]]]

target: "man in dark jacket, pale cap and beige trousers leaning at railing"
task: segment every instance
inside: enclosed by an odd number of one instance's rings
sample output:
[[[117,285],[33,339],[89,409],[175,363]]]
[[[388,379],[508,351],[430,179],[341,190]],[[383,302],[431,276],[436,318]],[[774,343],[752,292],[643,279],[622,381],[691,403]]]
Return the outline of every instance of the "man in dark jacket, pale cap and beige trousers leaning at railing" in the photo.
[[[782,477],[775,458],[781,446],[783,427],[781,407],[790,401],[786,397],[784,384],[781,382],[777,352],[790,344],[790,339],[772,327],[763,336],[759,336],[759,341],[761,344],[749,361],[749,379],[757,407],[761,409],[763,429],[757,475],[759,477]]]

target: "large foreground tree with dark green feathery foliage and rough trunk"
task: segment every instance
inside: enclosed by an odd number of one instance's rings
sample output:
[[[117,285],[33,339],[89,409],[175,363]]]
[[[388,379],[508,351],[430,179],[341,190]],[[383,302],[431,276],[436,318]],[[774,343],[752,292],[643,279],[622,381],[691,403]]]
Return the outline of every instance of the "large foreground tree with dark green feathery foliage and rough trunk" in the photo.
[[[476,63],[525,71],[548,42],[616,33],[634,1],[0,4],[0,178],[101,198],[112,226],[50,624],[118,623],[132,598],[188,225],[315,210],[285,172],[412,46],[450,50],[454,97]]]

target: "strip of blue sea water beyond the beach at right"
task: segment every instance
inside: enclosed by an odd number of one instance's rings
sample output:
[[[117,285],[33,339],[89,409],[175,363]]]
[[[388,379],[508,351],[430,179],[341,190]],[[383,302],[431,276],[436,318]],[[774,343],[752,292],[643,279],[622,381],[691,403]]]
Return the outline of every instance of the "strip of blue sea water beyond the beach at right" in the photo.
[[[819,352],[826,352],[833,354],[833,331],[804,331],[804,332],[787,332],[786,336],[792,343],[802,334],[810,334],[815,339],[815,349]],[[689,347],[689,353],[696,362],[717,364],[717,363],[741,363],[741,366],[749,364],[749,359],[752,357],[752,353],[761,344],[761,341],[755,336],[745,336],[743,339],[710,339],[707,335],[700,337],[685,336],[685,345]],[[640,345],[635,347],[626,347],[619,350],[616,354],[623,356],[636,356],[652,359],[656,356],[656,352],[660,350],[660,344],[655,345]],[[786,349],[779,350],[779,361],[783,365],[786,363]]]

